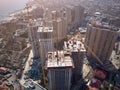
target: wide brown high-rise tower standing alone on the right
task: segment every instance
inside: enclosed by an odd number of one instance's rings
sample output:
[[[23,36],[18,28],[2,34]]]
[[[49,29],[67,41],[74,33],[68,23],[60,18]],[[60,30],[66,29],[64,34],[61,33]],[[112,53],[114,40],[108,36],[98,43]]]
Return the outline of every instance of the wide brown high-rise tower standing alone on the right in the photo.
[[[104,62],[109,60],[117,36],[118,32],[108,26],[89,23],[85,43]],[[89,51],[88,56],[93,57]]]

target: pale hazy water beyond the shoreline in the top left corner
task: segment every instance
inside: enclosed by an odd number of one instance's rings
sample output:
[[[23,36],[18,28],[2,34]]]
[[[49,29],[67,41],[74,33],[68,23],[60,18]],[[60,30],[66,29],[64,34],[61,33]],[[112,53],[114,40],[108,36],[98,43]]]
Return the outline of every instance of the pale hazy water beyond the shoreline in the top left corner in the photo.
[[[22,9],[28,0],[0,0],[0,20],[5,19],[11,12]]]

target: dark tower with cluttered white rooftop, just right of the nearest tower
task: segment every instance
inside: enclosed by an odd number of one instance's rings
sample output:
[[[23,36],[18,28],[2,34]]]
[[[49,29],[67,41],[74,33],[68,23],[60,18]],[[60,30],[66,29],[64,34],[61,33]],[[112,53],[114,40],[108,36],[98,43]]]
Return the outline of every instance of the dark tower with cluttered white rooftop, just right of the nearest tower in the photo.
[[[67,52],[71,52],[71,58],[73,59],[73,63],[75,66],[75,68],[73,69],[73,74],[72,74],[73,84],[76,84],[76,82],[79,81],[81,78],[83,60],[84,60],[84,56],[86,52],[84,44],[78,39],[79,38],[76,35],[69,41],[64,42],[64,50]]]

